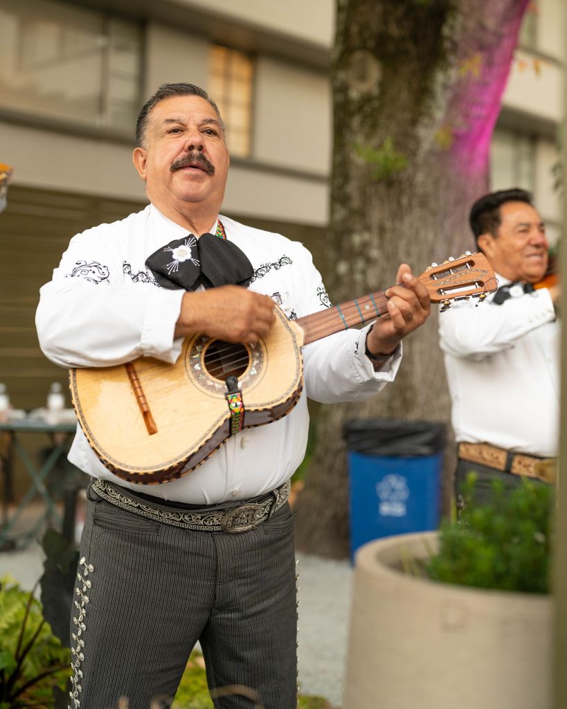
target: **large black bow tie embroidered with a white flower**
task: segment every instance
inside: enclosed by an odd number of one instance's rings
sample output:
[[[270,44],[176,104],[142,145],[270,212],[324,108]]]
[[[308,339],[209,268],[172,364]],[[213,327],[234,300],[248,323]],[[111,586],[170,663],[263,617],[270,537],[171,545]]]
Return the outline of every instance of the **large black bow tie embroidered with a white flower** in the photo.
[[[172,290],[194,291],[201,284],[205,288],[247,286],[254,275],[245,253],[213,234],[176,239],[147,257],[146,266],[160,286]]]

